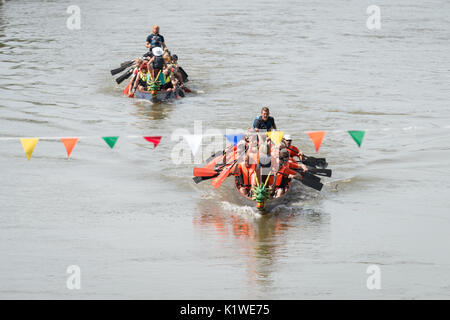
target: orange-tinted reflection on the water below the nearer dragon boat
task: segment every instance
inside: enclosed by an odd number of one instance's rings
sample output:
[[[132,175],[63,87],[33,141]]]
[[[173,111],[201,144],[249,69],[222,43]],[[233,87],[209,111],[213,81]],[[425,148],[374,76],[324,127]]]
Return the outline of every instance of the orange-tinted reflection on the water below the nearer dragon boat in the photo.
[[[276,285],[273,274],[279,271],[280,260],[288,256],[290,241],[297,243],[305,238],[310,242],[311,232],[322,233],[323,224],[327,224],[317,210],[260,215],[256,209],[237,208],[241,210],[226,210],[217,202],[202,200],[193,224],[198,232],[214,238],[219,250],[230,249],[236,261],[244,257],[248,284],[264,291]]]

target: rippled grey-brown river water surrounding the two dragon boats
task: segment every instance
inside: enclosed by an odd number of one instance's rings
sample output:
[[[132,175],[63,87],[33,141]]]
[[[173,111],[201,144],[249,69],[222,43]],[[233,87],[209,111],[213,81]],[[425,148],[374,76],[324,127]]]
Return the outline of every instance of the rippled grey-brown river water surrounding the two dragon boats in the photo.
[[[446,0],[2,2],[0,297],[448,298],[448,12]],[[121,96],[109,70],[145,52],[155,23],[196,94]],[[261,216],[231,181],[194,184],[171,135],[245,129],[264,105],[333,177]],[[317,154],[314,130],[327,131]],[[361,148],[347,130],[366,131]],[[101,139],[116,135],[114,149]],[[67,159],[56,138],[71,136]],[[18,137],[47,139],[28,161]]]

